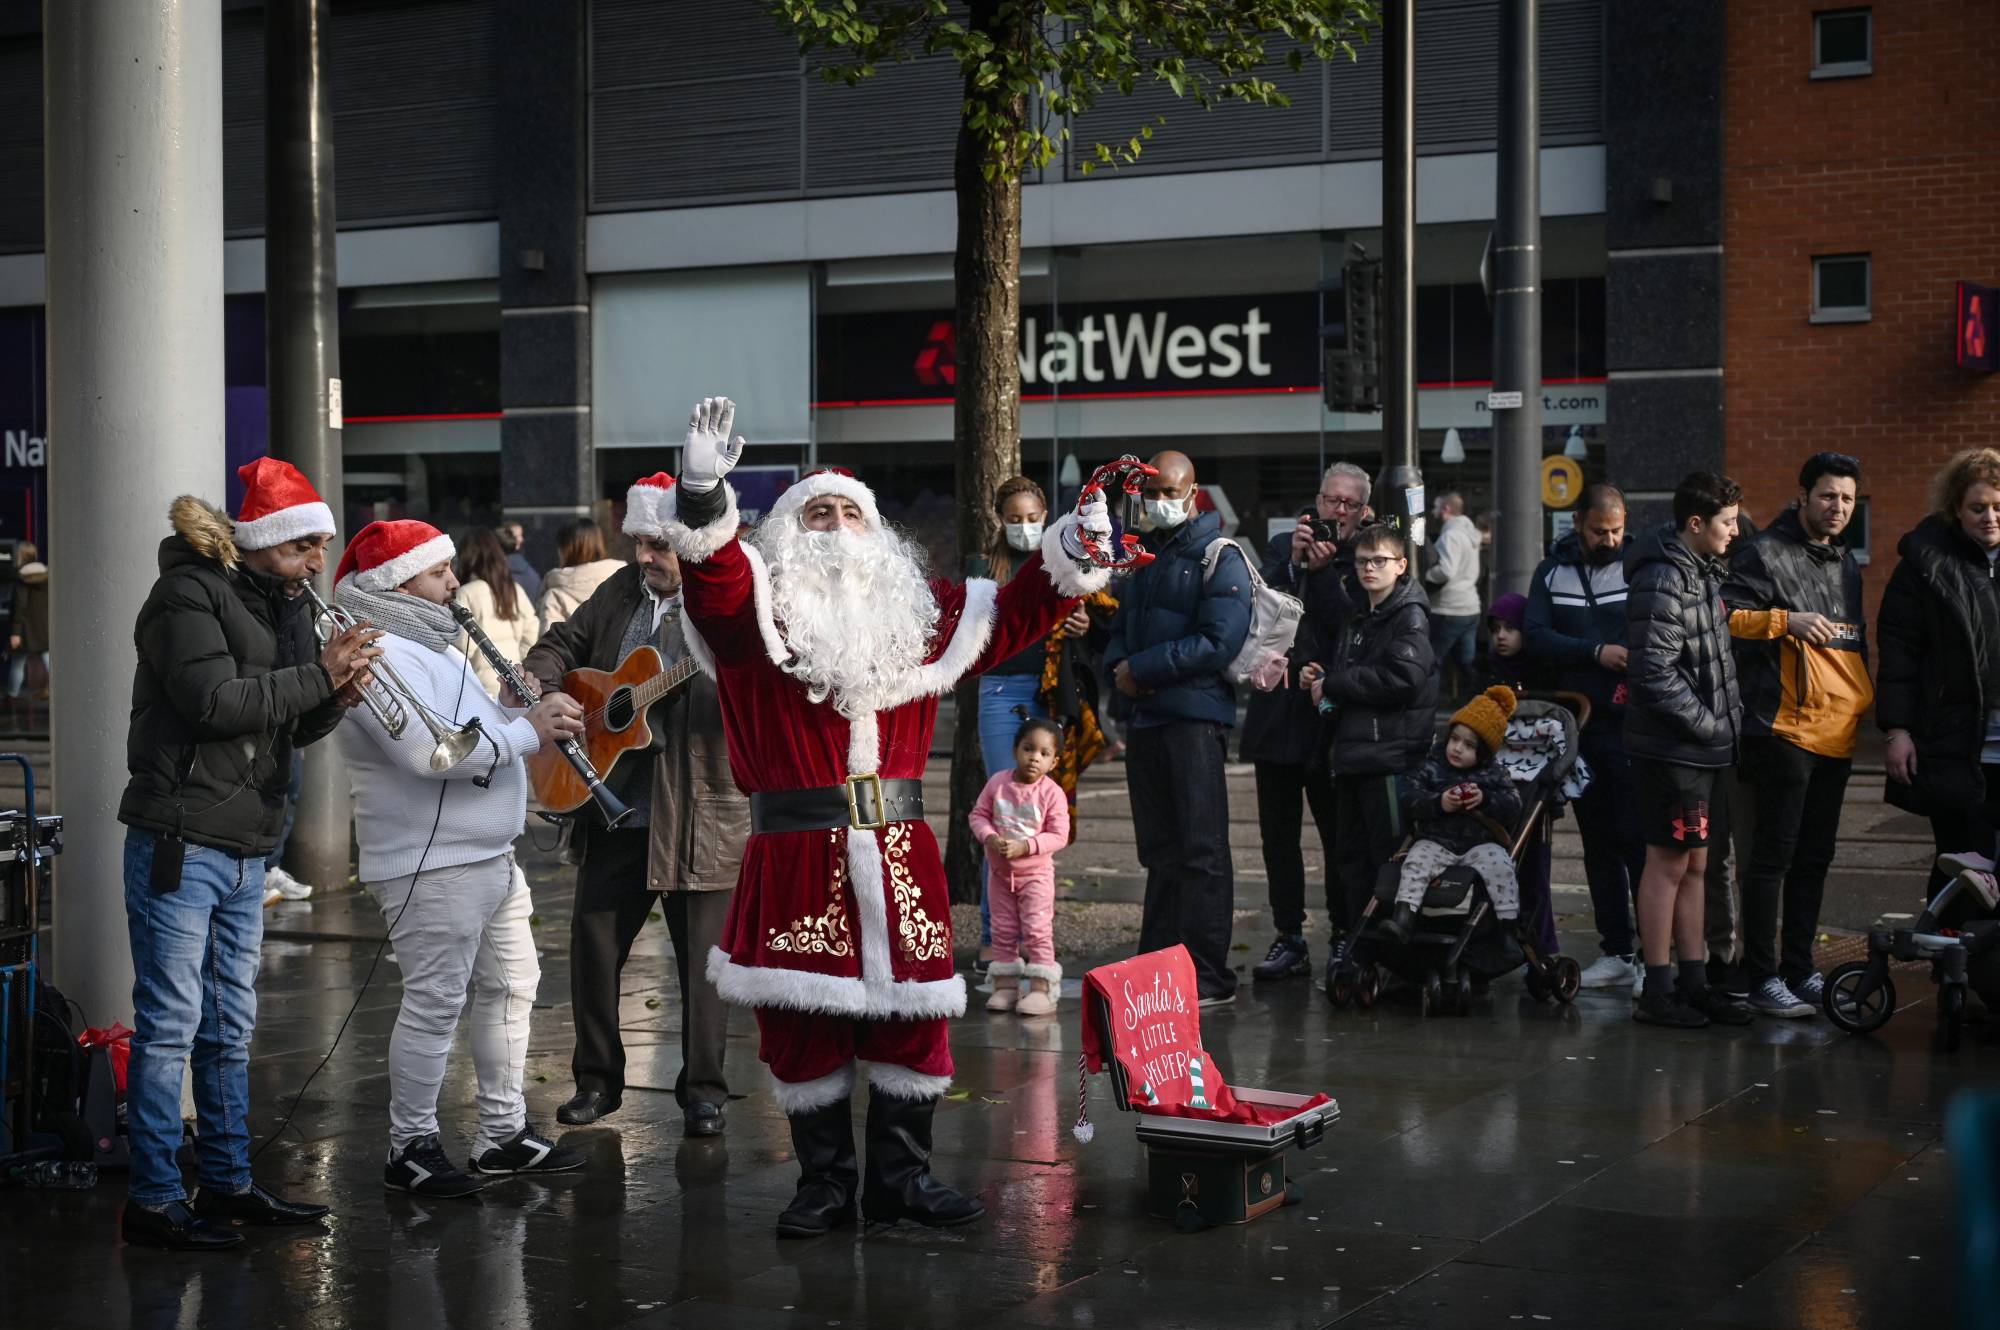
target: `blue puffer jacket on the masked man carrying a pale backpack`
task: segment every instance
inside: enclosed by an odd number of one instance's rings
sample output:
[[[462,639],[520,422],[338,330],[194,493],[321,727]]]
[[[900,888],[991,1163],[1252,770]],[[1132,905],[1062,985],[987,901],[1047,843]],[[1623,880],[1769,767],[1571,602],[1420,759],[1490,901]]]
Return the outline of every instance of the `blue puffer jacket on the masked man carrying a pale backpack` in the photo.
[[[1164,532],[1148,532],[1154,562],[1126,582],[1104,648],[1104,670],[1132,662],[1140,698],[1128,724],[1136,730],[1174,720],[1236,724],[1236,688],[1222,678],[1250,636],[1250,566],[1224,548],[1202,586],[1202,552],[1222,534],[1222,518],[1200,512]]]

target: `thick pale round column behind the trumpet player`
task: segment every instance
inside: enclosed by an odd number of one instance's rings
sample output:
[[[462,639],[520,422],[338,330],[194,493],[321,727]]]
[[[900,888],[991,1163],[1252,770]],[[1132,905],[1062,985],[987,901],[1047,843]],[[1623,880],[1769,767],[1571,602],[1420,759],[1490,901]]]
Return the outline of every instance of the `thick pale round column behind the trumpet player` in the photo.
[[[50,976],[132,1020],[132,624],[166,504],[222,496],[222,4],[48,0],[50,636],[68,818]]]

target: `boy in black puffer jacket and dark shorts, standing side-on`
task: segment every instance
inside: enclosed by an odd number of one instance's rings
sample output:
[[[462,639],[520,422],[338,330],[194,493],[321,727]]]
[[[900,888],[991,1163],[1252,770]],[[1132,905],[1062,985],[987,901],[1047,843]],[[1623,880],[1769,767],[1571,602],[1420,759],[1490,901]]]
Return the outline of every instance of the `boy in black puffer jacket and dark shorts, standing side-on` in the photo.
[[[1672,526],[1626,554],[1626,750],[1646,830],[1646,982],[1632,1018],[1646,1024],[1750,1022],[1750,1008],[1708,988],[1704,938],[1710,802],[1718,774],[1736,762],[1742,726],[1716,562],[1736,536],[1740,498],[1728,476],[1694,472],[1674,490]]]

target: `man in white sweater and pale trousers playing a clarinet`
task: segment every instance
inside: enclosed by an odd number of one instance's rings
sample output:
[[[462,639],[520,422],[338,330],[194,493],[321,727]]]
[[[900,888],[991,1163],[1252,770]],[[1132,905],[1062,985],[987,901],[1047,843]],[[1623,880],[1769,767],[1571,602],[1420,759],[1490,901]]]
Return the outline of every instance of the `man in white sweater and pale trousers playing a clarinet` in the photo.
[[[360,880],[402,966],[382,1180],[420,1196],[470,1196],[490,1174],[584,1162],[534,1130],[522,1098],[542,970],[528,880],[514,864],[528,808],[522,758],[580,734],[582,708],[564,694],[526,712],[486,696],[454,646],[452,556],[452,540],[428,522],[370,522],[334,572],[336,614],[384,630],[372,702],[340,744],[354,782]],[[458,1168],[438,1134],[438,1086],[468,996],[480,1126]]]

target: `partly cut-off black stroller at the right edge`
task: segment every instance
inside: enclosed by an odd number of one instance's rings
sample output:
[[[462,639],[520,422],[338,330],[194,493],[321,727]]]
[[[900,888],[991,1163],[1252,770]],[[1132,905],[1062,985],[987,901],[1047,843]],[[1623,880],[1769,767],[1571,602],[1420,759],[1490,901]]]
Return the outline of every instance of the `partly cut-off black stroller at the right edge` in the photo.
[[[1984,854],[1940,854],[1938,868],[1958,876],[1932,896],[1908,928],[1868,932],[1868,958],[1834,966],[1820,1004],[1850,1034],[1872,1034],[1896,1014],[1890,962],[1930,962],[1938,986],[1938,1032],[1946,1052],[1966,1028],[1966,988],[1988,996],[2000,986],[2000,884]]]

